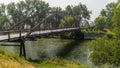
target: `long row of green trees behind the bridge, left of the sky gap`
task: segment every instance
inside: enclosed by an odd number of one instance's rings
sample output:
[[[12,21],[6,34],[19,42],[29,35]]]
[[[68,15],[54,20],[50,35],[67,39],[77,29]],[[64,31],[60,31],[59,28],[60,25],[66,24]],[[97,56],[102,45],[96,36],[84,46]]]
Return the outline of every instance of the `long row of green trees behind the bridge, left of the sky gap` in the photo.
[[[40,22],[48,15],[47,12],[51,11],[66,12],[69,14],[68,16],[62,14],[61,17],[52,17],[52,19],[46,21],[47,24],[45,22],[40,26],[45,28],[58,28],[59,25],[62,25],[62,27],[66,27],[70,24],[73,24],[74,26],[79,26],[79,23],[82,20],[89,20],[90,18],[90,11],[87,9],[86,5],[81,3],[74,6],[68,5],[66,9],[63,10],[61,7],[49,7],[49,4],[42,0],[24,0],[18,3],[12,2],[7,5],[0,5],[0,29],[4,30],[25,19],[26,17],[30,17],[36,13],[41,13],[39,16],[30,18],[29,20],[26,20],[25,22],[19,24],[19,26],[16,27],[17,29],[33,28],[36,23]],[[62,23],[60,23],[60,20],[62,21]]]

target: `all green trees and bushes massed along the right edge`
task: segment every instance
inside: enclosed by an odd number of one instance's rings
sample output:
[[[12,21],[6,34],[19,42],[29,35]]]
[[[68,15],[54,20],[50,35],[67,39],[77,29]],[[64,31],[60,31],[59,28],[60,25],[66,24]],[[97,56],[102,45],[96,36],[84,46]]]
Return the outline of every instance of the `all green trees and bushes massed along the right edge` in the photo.
[[[97,30],[107,30],[107,37],[89,42],[90,60],[96,65],[120,66],[120,6],[110,3],[95,20]],[[109,37],[109,38],[108,38]]]

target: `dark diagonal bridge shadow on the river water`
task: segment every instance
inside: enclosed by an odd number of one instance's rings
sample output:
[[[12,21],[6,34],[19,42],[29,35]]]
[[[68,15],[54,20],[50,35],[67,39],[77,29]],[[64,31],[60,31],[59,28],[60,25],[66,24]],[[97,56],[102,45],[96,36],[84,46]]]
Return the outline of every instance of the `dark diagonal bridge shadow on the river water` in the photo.
[[[66,58],[69,53],[71,53],[75,48],[80,46],[80,43],[82,43],[84,40],[74,40],[70,43],[66,44],[57,54],[56,56],[60,58]]]

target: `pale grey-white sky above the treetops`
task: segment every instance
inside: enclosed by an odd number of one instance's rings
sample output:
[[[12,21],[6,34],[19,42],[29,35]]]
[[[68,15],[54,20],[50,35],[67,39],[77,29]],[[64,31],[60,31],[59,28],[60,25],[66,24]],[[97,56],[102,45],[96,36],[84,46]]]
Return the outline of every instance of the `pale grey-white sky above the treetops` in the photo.
[[[10,2],[19,2],[21,0],[0,0],[0,3],[8,4]],[[91,20],[93,21],[99,14],[102,9],[105,9],[105,6],[111,2],[117,2],[117,0],[43,0],[49,3],[51,7],[61,7],[65,9],[67,5],[78,5],[80,2],[85,4],[90,11]]]

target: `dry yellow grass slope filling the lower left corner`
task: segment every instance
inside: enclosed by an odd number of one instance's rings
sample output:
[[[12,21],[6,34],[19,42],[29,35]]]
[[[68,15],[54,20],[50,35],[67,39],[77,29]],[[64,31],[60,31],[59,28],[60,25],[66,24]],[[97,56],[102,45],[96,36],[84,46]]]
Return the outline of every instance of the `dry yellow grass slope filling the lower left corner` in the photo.
[[[19,56],[0,50],[0,68],[36,68]]]

